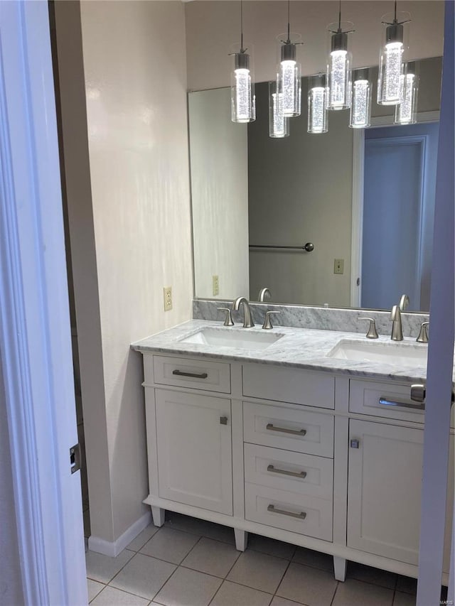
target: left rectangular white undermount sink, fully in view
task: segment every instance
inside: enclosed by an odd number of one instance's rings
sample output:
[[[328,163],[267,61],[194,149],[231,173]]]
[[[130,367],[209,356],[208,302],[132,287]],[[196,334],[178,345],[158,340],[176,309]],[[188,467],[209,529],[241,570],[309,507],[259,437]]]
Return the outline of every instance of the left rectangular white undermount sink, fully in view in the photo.
[[[279,332],[232,330],[231,328],[202,328],[181,343],[196,345],[218,345],[219,347],[236,347],[243,350],[265,350],[284,337]]]

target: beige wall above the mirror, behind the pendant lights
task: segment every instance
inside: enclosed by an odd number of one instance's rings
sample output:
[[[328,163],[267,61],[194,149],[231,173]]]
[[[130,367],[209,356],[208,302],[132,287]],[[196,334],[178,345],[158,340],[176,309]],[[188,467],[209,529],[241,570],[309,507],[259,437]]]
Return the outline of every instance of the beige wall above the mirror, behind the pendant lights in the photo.
[[[284,1],[245,1],[244,32],[254,48],[256,82],[272,80],[277,63],[276,38],[286,31]],[[393,10],[390,0],[344,0],[343,20],[353,21],[353,67],[378,65],[380,21]],[[409,11],[410,58],[442,55],[444,2],[401,0],[399,11]],[[302,75],[325,70],[326,27],[338,18],[338,2],[302,0],[291,2],[291,31],[302,35]],[[188,90],[230,85],[230,45],[240,37],[240,2],[203,0],[186,4]]]

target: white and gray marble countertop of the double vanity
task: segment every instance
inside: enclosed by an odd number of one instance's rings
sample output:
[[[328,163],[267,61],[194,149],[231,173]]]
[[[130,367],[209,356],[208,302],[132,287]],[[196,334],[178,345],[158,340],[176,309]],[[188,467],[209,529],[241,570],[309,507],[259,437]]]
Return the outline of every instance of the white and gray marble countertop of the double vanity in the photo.
[[[202,328],[215,328],[223,332],[237,331],[261,332],[262,334],[282,335],[277,342],[272,343],[266,349],[255,350],[255,346],[245,349],[244,347],[226,347],[220,345],[194,344],[181,342],[183,339],[194,335]],[[244,332],[245,331],[245,332]],[[380,335],[377,340],[367,340],[365,335],[356,332],[338,332],[336,330],[316,330],[307,328],[289,328],[277,326],[272,330],[262,330],[260,326],[254,328],[224,327],[220,322],[208,320],[189,320],[186,323],[169,328],[156,335],[147,337],[141,341],[132,343],[132,348],[138,352],[163,353],[175,355],[204,356],[213,359],[225,359],[237,362],[259,362],[261,364],[274,364],[277,366],[295,367],[318,371],[333,372],[336,374],[348,374],[353,377],[370,377],[373,379],[387,379],[400,382],[421,382],[426,379],[427,367],[417,366],[419,361],[409,364],[397,364],[395,360],[391,363],[386,361],[373,362],[368,359],[337,359],[329,357],[328,354],[341,340],[350,342],[368,342],[386,344],[391,352],[398,352],[405,357],[403,350],[411,347],[425,348],[427,345],[417,343],[415,338],[405,338],[400,342],[393,342],[390,337]],[[412,365],[414,364],[414,365]]]

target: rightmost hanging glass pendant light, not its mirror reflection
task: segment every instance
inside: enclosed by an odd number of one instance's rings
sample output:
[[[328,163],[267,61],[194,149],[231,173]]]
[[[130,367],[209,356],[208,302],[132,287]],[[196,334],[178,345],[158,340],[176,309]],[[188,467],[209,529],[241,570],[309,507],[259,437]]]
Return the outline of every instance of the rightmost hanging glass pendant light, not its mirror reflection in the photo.
[[[405,53],[405,38],[410,13],[397,13],[397,0],[393,15],[382,17],[382,26],[385,26],[385,42],[380,49],[379,77],[378,77],[378,104],[396,105],[400,103],[403,75],[403,55]],[[399,18],[402,21],[399,21]]]

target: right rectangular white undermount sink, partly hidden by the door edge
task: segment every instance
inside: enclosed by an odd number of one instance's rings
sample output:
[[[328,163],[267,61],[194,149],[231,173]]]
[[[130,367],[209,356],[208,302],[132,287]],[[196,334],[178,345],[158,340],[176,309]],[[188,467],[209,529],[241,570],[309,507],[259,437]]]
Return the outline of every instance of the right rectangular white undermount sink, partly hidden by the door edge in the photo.
[[[428,347],[402,342],[361,342],[341,340],[327,356],[360,362],[382,362],[400,366],[427,366]]]

